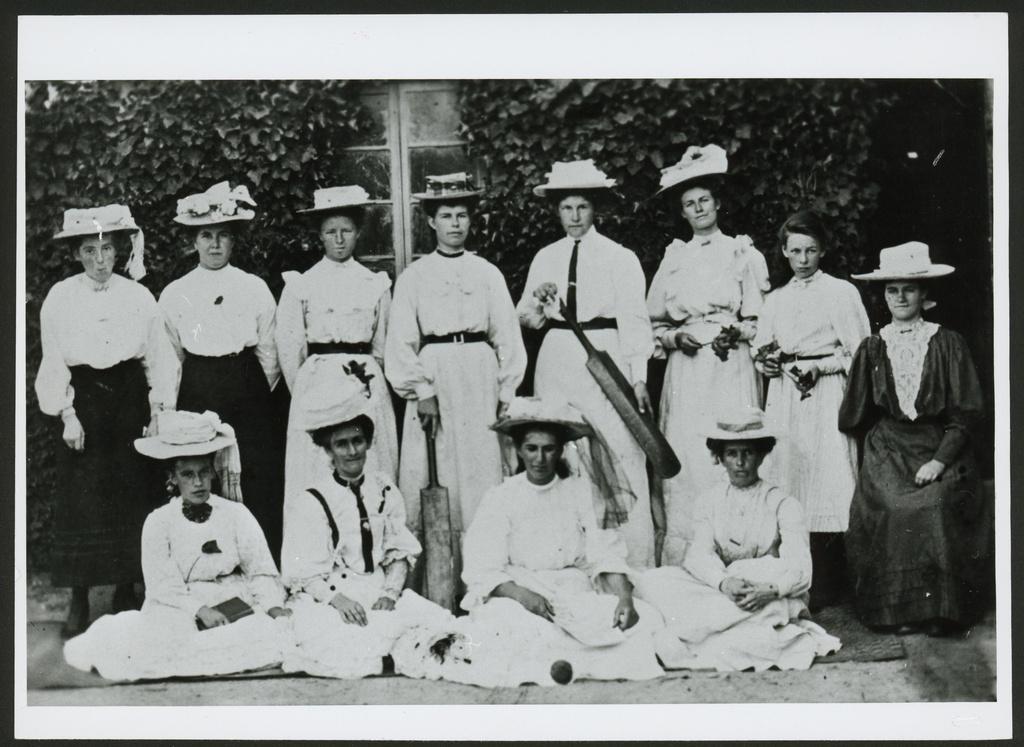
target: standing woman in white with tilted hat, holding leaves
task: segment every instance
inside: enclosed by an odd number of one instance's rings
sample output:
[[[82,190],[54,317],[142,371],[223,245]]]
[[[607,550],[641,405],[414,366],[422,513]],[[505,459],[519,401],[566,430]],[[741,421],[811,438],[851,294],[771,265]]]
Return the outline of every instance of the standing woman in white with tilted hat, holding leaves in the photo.
[[[693,536],[697,496],[724,478],[705,448],[712,414],[721,406],[760,406],[749,352],[768,290],[768,265],[746,236],[718,226],[718,179],[728,168],[718,146],[686,149],[662,171],[658,194],[671,196],[693,232],[675,239],[651,281],[647,309],[655,357],[668,356],[659,423],[682,469],[663,483],[668,536],[664,565],[679,565]]]

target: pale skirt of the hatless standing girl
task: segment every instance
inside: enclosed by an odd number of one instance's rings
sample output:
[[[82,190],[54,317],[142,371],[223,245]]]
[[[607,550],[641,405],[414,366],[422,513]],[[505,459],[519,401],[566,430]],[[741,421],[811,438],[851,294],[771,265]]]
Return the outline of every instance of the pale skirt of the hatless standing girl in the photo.
[[[806,400],[787,376],[768,385],[765,414],[781,432],[761,471],[801,502],[811,532],[845,532],[850,524],[857,443],[839,429],[845,390],[845,374],[821,376]]]

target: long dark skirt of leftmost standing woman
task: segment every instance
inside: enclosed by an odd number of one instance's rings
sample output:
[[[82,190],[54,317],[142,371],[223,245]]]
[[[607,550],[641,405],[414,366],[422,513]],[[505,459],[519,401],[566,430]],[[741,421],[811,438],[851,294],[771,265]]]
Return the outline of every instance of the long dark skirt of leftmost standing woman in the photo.
[[[73,366],[71,383],[85,449],[57,447],[53,585],[140,581],[142,522],[166,497],[159,468],[133,446],[150,421],[145,371],[138,360]]]

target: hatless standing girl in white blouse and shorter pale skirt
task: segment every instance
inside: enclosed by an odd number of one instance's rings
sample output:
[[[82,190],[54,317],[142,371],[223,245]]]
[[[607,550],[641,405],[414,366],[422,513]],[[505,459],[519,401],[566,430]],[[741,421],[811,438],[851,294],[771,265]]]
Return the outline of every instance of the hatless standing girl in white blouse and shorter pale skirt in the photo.
[[[765,466],[771,482],[804,507],[815,612],[837,601],[844,587],[843,533],[857,483],[857,443],[840,431],[839,409],[853,354],[870,327],[857,289],[818,268],[831,245],[817,213],[791,215],[778,238],[793,280],[765,299],[753,350],[755,366],[770,379],[765,412],[785,433]]]

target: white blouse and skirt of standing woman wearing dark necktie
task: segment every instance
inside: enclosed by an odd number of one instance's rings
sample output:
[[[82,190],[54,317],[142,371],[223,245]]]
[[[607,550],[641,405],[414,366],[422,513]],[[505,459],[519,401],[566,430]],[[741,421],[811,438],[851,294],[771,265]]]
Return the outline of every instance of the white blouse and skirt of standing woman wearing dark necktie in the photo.
[[[561,320],[557,304],[544,307],[534,296],[542,283],[558,286],[565,298],[574,239],[565,237],[544,247],[534,257],[517,310],[524,327],[541,329],[549,319]],[[582,321],[603,317],[617,329],[586,332],[605,350],[631,383],[647,380],[647,360],[654,349],[650,321],[644,306],[644,276],[630,249],[591,229],[581,240],[577,259],[577,309]],[[534,393],[556,397],[575,406],[601,431],[620,460],[637,502],[622,527],[630,565],[654,565],[654,528],[650,514],[646,456],[611,402],[587,370],[587,354],[570,330],[550,329],[537,358]]]

